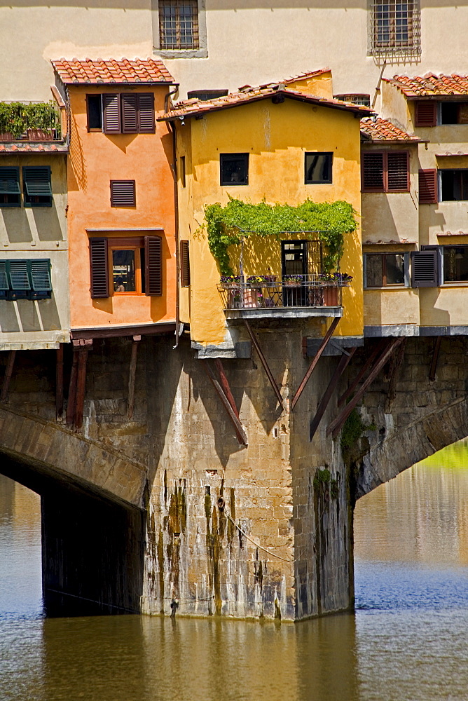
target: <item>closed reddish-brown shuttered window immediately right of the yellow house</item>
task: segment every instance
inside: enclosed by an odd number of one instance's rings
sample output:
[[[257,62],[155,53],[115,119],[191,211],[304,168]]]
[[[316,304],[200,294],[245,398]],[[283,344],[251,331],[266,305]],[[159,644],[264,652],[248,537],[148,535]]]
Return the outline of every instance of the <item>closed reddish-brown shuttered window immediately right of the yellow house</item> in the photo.
[[[407,151],[366,151],[362,156],[363,192],[408,192]]]

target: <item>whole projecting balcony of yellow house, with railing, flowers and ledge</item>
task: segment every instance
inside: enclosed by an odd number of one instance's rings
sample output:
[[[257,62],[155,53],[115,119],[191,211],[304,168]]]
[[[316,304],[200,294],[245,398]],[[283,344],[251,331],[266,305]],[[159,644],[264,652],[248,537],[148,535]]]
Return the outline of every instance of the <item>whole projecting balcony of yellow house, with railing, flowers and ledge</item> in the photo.
[[[338,273],[339,275],[339,273]],[[345,280],[326,275],[252,275],[221,280],[226,319],[340,317]]]

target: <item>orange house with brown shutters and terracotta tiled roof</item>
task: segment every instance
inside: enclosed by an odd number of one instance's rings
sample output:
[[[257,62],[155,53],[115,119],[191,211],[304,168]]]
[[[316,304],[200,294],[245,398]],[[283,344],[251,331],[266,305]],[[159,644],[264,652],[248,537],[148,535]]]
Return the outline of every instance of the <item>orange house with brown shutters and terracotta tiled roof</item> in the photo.
[[[173,139],[156,117],[174,80],[151,59],[61,59],[53,67],[71,120],[71,338],[172,332]]]

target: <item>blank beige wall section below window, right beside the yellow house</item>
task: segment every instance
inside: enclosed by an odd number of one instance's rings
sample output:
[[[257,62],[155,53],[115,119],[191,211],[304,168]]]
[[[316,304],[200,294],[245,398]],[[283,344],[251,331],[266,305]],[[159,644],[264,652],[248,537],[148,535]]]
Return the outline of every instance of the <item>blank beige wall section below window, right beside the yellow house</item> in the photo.
[[[419,293],[411,287],[364,290],[364,324],[419,324]]]

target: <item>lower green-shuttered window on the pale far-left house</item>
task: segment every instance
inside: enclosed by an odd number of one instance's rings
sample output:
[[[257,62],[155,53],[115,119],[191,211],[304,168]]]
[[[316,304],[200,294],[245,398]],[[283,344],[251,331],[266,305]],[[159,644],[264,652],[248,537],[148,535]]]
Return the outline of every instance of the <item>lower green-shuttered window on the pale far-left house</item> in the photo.
[[[50,299],[50,259],[0,261],[0,299]]]

